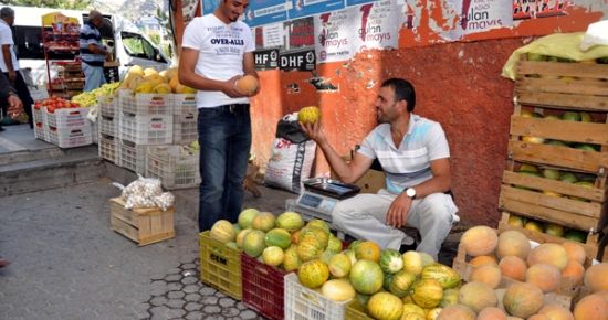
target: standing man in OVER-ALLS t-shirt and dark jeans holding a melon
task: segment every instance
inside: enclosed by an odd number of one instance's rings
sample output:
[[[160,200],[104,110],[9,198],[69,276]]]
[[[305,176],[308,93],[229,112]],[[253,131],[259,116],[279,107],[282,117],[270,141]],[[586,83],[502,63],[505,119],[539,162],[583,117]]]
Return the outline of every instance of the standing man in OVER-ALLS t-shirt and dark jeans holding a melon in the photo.
[[[179,82],[198,89],[200,145],[199,230],[216,221],[237,222],[243,202],[251,119],[249,96],[237,81],[258,77],[250,28],[239,21],[248,0],[222,0],[211,14],[195,18],[184,32]]]

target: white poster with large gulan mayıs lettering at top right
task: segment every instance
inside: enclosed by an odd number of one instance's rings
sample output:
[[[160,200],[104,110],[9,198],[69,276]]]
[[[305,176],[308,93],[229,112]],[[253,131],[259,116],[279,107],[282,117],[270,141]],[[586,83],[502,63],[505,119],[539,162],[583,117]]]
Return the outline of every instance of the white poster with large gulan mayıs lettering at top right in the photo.
[[[464,0],[460,26],[464,34],[511,28],[513,0]]]

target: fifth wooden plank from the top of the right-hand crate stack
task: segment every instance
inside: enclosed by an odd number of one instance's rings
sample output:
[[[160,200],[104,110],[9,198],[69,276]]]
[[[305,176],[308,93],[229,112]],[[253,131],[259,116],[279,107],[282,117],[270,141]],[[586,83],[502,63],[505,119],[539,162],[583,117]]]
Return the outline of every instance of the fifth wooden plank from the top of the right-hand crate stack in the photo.
[[[601,167],[608,168],[607,152],[593,152],[514,140],[509,140],[509,152],[515,161],[572,168],[596,174]]]

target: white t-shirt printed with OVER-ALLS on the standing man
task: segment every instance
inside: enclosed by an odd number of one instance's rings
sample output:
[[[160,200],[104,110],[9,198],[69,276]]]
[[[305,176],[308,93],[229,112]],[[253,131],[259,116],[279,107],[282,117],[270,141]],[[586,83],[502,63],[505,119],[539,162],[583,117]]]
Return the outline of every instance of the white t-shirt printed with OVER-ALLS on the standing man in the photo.
[[[216,81],[243,75],[243,55],[255,50],[251,29],[244,22],[226,24],[214,14],[195,18],[188,23],[181,46],[198,50],[199,58],[195,72]],[[231,98],[222,92],[197,93],[199,108],[247,103],[247,97]]]

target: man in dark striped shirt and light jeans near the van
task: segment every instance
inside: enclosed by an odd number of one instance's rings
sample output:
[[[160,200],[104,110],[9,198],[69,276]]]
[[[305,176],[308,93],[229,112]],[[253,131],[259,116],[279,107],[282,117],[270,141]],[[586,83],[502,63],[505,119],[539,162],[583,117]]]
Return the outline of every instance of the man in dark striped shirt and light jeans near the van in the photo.
[[[99,28],[104,23],[97,10],[88,12],[88,21],[81,28],[81,60],[84,73],[84,92],[91,92],[105,84],[104,62],[109,52],[102,44]]]

